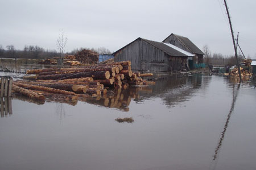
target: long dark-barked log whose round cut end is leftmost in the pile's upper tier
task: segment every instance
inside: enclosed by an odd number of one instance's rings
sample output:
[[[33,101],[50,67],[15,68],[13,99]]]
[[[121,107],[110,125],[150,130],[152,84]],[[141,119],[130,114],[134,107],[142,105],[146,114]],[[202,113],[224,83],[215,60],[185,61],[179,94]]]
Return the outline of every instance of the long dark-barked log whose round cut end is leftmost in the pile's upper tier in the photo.
[[[81,78],[81,77],[93,77],[96,79],[108,79],[110,77],[109,71],[98,72],[81,72],[81,73],[67,73],[67,74],[50,74],[44,76],[38,76],[39,80],[63,80],[68,78]]]

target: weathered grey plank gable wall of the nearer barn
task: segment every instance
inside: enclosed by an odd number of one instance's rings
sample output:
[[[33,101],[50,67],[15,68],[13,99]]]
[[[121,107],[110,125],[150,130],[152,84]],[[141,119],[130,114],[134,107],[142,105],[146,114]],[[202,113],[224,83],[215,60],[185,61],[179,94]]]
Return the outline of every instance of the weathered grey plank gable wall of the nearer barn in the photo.
[[[170,57],[142,39],[135,40],[115,53],[114,61],[126,60],[131,61],[131,69],[133,70],[156,72],[172,70]]]

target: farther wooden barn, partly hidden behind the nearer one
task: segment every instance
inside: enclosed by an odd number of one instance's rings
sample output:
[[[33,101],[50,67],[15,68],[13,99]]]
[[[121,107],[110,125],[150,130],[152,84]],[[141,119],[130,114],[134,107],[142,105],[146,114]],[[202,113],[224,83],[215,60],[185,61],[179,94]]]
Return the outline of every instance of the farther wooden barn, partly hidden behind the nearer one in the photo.
[[[189,68],[193,68],[193,64],[203,63],[204,53],[196,47],[194,43],[191,42],[187,37],[171,34],[166,39],[163,40],[163,43],[170,43],[179,47],[187,52],[193,53],[195,56],[193,58],[189,58],[188,64]]]

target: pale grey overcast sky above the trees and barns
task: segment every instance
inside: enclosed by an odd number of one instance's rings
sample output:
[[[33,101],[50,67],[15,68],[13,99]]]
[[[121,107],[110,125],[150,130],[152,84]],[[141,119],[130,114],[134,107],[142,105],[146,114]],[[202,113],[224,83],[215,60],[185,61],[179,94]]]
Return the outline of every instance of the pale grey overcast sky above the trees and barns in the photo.
[[[256,59],[256,1],[228,1],[235,35],[245,53]],[[171,33],[188,37],[200,49],[233,55],[222,0],[0,0],[0,45],[39,45],[57,49],[60,30],[66,51],[106,47],[117,51],[138,37],[162,42]]]

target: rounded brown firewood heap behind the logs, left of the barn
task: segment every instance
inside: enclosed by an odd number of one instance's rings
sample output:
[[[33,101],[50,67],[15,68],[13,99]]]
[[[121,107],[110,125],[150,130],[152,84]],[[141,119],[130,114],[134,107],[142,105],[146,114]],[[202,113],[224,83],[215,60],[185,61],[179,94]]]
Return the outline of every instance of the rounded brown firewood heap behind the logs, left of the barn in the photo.
[[[97,52],[89,49],[82,49],[75,55],[77,61],[88,64],[97,64],[98,56]]]

